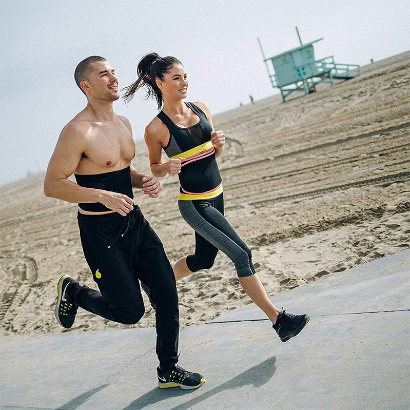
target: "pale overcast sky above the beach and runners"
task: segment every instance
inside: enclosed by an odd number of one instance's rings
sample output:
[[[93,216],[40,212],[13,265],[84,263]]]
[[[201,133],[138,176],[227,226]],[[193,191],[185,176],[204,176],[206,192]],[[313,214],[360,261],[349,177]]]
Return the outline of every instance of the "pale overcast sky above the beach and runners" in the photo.
[[[63,126],[86,105],[73,72],[89,55],[115,68],[120,88],[150,51],[185,66],[187,101],[216,114],[277,93],[272,56],[323,37],[315,57],[365,65],[410,47],[408,0],[0,0],[0,185],[44,171]],[[143,92],[126,107],[135,139],[157,114]]]

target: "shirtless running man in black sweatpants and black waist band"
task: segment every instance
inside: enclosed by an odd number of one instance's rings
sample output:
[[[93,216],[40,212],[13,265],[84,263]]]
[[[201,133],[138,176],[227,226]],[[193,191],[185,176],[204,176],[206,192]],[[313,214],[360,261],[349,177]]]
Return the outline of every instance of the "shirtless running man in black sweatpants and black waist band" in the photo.
[[[133,187],[157,198],[160,183],[131,164],[135,155],[131,124],[112,107],[120,97],[118,79],[99,56],[83,60],[74,77],[87,106],[58,138],[44,193],[79,203],[81,243],[100,291],[62,276],[55,317],[61,326],[70,328],[82,307],[114,322],[137,323],[145,313],[140,280],[156,305],[159,387],[200,387],[205,381],[200,374],[177,365],[179,307],[172,267],[160,239],[133,201]],[[68,180],[73,173],[77,183]]]

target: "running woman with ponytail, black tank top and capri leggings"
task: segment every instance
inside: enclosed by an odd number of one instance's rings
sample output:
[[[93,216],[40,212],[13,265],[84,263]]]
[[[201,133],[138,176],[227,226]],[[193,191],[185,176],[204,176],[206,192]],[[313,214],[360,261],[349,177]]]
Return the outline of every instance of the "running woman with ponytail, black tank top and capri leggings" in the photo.
[[[216,158],[222,154],[225,134],[215,131],[208,107],[200,102],[185,103],[188,80],[182,63],[157,53],[145,55],[137,68],[138,79],[125,88],[130,101],[141,87],[157,100],[162,110],[145,129],[152,174],[178,174],[179,209],[195,230],[195,252],[173,266],[179,280],[201,269],[210,269],[222,250],[235,264],[239,281],[272,321],[282,342],[296,336],[309,321],[307,315],[290,315],[277,309],[266,295],[252,265],[251,251],[224,217],[221,175]],[[169,157],[163,162],[162,149]]]

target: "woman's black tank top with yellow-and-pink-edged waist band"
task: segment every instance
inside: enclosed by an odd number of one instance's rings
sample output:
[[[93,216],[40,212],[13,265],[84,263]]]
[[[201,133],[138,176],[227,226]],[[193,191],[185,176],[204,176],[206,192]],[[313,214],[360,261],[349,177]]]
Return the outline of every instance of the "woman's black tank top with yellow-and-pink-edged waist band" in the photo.
[[[157,115],[169,130],[169,142],[164,151],[169,158],[184,158],[181,172],[178,174],[181,193],[194,195],[208,192],[208,197],[212,198],[209,192],[222,183],[215,149],[210,142],[212,128],[206,114],[199,107],[192,103],[185,104],[199,116],[198,124],[183,128],[174,124],[164,111]],[[186,196],[184,199],[189,198]],[[190,199],[196,197],[192,196]]]

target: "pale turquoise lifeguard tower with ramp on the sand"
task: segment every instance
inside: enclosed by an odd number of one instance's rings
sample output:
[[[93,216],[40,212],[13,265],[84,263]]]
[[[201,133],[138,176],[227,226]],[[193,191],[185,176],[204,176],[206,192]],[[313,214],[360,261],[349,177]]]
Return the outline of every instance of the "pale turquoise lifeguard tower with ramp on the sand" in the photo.
[[[315,60],[313,44],[323,40],[323,38],[302,44],[297,27],[296,31],[300,46],[269,58],[265,58],[261,41],[258,38],[272,87],[281,90],[284,102],[292,92],[298,91],[308,94],[316,91],[316,84],[330,83],[333,86],[334,79],[349,80],[360,74],[359,65],[335,63],[333,55]],[[273,73],[269,67],[269,62],[274,69]]]

